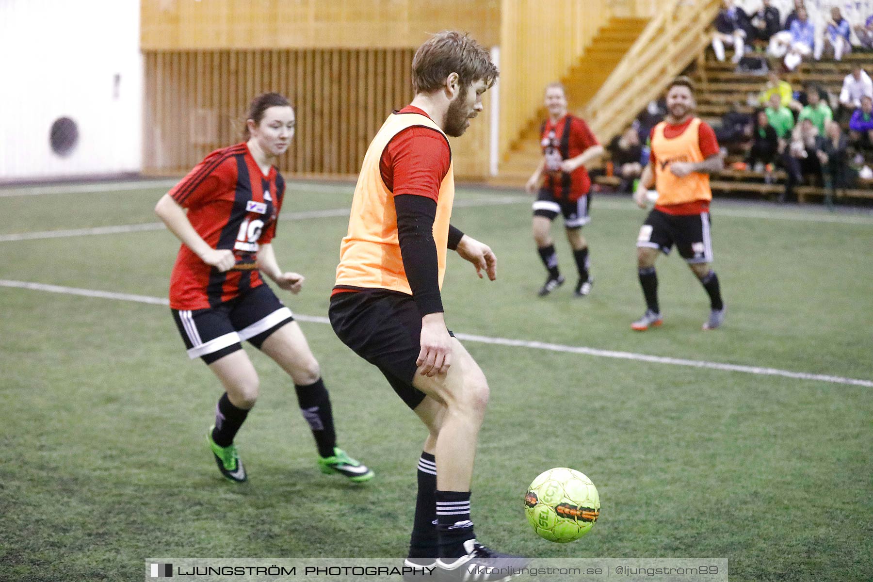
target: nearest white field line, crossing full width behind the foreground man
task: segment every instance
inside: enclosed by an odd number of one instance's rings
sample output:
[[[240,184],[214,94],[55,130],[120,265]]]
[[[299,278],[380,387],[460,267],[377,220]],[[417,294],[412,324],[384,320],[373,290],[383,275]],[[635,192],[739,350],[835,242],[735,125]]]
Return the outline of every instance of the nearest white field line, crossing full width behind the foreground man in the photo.
[[[133,295],[130,293],[114,293],[112,291],[97,291],[93,289],[77,289],[75,287],[29,283],[27,281],[10,281],[7,279],[0,279],[0,287],[28,289],[31,291],[49,291],[52,293],[79,295],[91,298],[134,301],[136,303],[146,303],[149,305],[169,305],[169,301],[167,298],[148,297],[147,295]],[[307,321],[319,324],[330,323],[325,317],[300,315],[299,313],[295,313],[294,318],[298,319],[299,321]],[[533,350],[546,350],[548,352],[578,353],[581,355],[595,356],[599,358],[630,359],[634,361],[649,362],[651,364],[697,367],[709,370],[720,370],[722,372],[751,373],[759,376],[780,376],[782,378],[790,378],[792,380],[813,380],[820,382],[830,382],[833,384],[844,384],[848,386],[862,386],[873,388],[873,380],[858,380],[856,378],[844,378],[842,376],[832,376],[821,373],[792,372],[790,370],[780,370],[778,368],[740,366],[738,364],[723,364],[720,362],[709,362],[698,359],[667,358],[663,356],[650,356],[644,353],[615,352],[613,350],[601,350],[593,347],[584,346],[564,346],[561,344],[549,344],[542,341],[529,341],[526,339],[491,338],[488,336],[474,335],[471,333],[457,333],[456,336],[457,339],[463,339],[464,341],[471,341],[480,344],[491,344],[495,346],[524,347]]]

